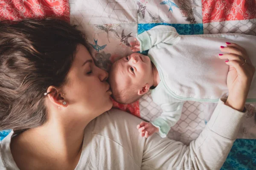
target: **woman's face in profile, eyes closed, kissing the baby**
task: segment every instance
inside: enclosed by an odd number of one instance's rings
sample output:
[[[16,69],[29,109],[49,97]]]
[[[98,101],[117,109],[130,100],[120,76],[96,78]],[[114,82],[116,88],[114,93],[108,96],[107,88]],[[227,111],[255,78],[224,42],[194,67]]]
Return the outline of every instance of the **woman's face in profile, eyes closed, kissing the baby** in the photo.
[[[96,67],[84,45],[78,45],[76,56],[63,88],[70,113],[94,119],[112,107],[108,73]],[[81,114],[81,115],[80,115]]]

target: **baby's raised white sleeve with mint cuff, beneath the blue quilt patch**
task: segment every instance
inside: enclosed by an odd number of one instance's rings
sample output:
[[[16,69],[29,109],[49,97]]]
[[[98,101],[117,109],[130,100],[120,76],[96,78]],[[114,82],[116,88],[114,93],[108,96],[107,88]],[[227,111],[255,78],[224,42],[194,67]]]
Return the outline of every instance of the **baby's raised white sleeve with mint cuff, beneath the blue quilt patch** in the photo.
[[[152,46],[160,42],[174,44],[180,40],[179,34],[172,26],[155,26],[142,34],[137,35],[140,45],[140,52],[150,49]]]

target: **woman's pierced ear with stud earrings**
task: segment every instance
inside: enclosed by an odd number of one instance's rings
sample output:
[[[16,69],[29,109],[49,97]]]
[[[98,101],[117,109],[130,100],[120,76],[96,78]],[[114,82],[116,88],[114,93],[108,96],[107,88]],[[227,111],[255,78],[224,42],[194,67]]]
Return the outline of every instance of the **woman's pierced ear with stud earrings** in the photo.
[[[48,98],[50,99],[50,101],[57,105],[58,107],[62,106],[62,107],[67,107],[67,100],[64,99],[64,96],[62,93],[60,93],[60,91],[57,91],[57,88],[55,88],[54,86],[49,86],[49,88],[47,89],[47,94]]]

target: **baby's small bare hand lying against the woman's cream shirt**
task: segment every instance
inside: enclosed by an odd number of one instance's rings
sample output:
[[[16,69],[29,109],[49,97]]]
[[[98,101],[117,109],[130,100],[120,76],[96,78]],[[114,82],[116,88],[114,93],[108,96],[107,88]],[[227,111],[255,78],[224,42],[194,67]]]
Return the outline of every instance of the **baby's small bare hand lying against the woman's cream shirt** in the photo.
[[[149,136],[159,131],[158,127],[155,127],[154,125],[148,122],[140,122],[140,125],[137,125],[137,129],[140,133],[140,136],[145,136],[145,138],[148,138]]]

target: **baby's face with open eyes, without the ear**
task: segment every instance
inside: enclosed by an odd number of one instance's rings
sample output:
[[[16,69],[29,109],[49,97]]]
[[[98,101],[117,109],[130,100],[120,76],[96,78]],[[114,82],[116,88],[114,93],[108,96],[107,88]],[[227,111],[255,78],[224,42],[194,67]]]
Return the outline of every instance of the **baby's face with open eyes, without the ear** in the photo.
[[[133,53],[127,57],[117,60],[110,73],[110,82],[120,88],[129,88],[129,85],[142,88],[151,78],[152,65],[148,56]],[[138,86],[138,87],[137,87]]]

